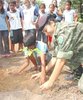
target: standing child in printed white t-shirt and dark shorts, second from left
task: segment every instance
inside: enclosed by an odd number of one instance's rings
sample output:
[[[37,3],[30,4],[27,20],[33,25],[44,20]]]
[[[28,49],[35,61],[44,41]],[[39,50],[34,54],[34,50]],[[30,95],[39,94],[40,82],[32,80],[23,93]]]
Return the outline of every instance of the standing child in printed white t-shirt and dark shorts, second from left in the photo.
[[[10,39],[11,39],[11,50],[18,52],[19,47],[22,47],[23,35],[22,35],[22,24],[21,24],[21,13],[16,9],[16,1],[9,2],[9,11],[7,12],[10,22]]]

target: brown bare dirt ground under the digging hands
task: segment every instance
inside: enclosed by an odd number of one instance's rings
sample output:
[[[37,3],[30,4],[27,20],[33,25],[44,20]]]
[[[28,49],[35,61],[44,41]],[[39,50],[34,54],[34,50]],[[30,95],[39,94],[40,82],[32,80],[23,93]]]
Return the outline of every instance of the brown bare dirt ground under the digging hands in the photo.
[[[65,75],[68,74],[66,68],[63,69],[54,86],[44,92],[39,88],[39,80],[31,79],[31,75],[37,73],[30,70],[33,67],[32,64],[20,75],[8,74],[9,71],[17,70],[23,64],[23,59],[21,53],[9,58],[0,58],[0,100],[83,100],[83,94],[77,88],[77,81],[64,79]],[[30,98],[24,96],[23,93],[16,92],[18,99],[7,99],[8,93],[12,95],[12,92],[15,93],[15,91],[28,91],[26,95]],[[24,97],[22,98],[22,96]]]

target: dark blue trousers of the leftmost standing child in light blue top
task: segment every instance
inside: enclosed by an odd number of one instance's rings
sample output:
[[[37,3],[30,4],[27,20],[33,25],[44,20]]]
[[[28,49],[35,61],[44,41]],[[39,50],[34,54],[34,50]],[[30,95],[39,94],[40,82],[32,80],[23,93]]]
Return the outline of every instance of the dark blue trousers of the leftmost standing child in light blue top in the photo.
[[[0,54],[9,53],[8,31],[0,31]]]

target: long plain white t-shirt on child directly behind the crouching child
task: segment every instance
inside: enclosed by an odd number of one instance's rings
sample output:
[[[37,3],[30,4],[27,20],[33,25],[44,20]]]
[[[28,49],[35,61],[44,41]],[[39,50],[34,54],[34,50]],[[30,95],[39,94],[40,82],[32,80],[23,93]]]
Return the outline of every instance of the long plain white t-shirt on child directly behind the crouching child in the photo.
[[[34,22],[34,8],[24,8],[22,11],[23,28],[24,30],[35,29]]]

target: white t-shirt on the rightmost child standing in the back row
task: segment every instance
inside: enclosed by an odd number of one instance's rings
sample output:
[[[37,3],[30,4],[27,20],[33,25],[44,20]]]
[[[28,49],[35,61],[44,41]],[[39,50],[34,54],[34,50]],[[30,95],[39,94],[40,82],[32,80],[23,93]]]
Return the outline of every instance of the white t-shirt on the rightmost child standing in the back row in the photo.
[[[72,23],[74,21],[75,10],[64,10],[63,17],[65,22]]]

